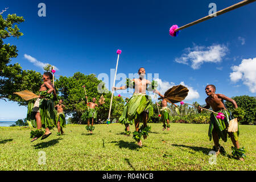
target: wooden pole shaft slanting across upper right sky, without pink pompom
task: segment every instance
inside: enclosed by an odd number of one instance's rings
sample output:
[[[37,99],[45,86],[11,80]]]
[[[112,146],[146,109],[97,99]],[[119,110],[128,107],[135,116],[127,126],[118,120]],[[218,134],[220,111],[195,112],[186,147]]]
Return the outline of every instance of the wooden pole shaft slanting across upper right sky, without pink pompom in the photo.
[[[214,18],[214,17],[215,17],[215,16],[214,16],[215,14],[216,14],[216,16],[218,16],[218,15],[227,13],[228,11],[232,11],[232,10],[234,10],[234,9],[237,9],[238,7],[245,6],[245,5],[247,5],[247,4],[249,4],[249,3],[252,3],[252,2],[254,2],[254,1],[256,1],[256,0],[244,0],[244,1],[238,2],[238,3],[236,3],[235,5],[226,7],[225,9],[220,10],[220,11],[217,11],[216,13],[213,13],[213,14],[210,14],[210,15],[208,15],[208,16],[205,16],[204,18],[198,19],[198,20],[196,20],[195,22],[191,22],[191,23],[188,23],[188,24],[186,24],[186,25],[184,25],[184,26],[182,26],[182,27],[180,27],[180,28],[177,28],[177,29],[175,30],[175,32],[180,31],[180,30],[183,30],[184,28],[193,26],[194,24],[197,24],[197,23],[200,23],[200,22],[204,22],[205,20],[208,20],[208,19],[210,19],[210,18]]]

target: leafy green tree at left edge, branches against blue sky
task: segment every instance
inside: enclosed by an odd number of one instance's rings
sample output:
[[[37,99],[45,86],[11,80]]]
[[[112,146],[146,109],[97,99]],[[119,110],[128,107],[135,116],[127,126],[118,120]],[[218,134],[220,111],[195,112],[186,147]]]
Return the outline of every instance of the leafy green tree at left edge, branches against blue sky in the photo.
[[[18,63],[8,65],[11,58],[18,56],[18,50],[14,45],[3,43],[3,39],[11,36],[19,38],[23,35],[15,24],[22,22],[24,22],[23,17],[16,14],[9,14],[6,19],[0,15],[0,98],[27,105],[26,101],[13,93],[26,89],[37,93],[42,83],[42,76],[35,71],[23,71]]]

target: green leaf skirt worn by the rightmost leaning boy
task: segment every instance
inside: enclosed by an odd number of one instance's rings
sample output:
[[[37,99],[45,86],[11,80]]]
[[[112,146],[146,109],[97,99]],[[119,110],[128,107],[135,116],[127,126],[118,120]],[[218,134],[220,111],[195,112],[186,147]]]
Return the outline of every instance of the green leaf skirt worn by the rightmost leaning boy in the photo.
[[[221,138],[224,142],[227,141],[228,138],[228,128],[226,126],[229,126],[229,121],[234,119],[232,113],[229,110],[220,110],[216,113],[223,113],[225,115],[224,120],[217,119],[217,114],[211,113],[210,114],[210,124],[209,124],[209,130],[208,130],[208,137],[210,140],[212,140],[212,130],[213,128],[217,131],[218,137]],[[238,131],[235,133],[230,133],[234,136],[234,139],[238,140],[239,135],[239,128]]]

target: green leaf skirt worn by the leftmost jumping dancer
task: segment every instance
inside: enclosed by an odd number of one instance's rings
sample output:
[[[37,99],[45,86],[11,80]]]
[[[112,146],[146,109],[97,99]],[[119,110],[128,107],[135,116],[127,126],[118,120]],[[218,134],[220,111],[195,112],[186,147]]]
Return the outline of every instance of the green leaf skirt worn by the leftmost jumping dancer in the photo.
[[[31,100],[28,102],[27,106],[27,121],[31,123],[33,127],[37,127],[35,115],[36,112],[33,111],[33,107],[35,104],[35,100]],[[56,114],[54,112],[54,102],[52,100],[48,100],[46,98],[42,98],[39,102],[39,113],[41,116],[41,123],[43,129],[52,129],[52,127],[56,127],[55,118]]]

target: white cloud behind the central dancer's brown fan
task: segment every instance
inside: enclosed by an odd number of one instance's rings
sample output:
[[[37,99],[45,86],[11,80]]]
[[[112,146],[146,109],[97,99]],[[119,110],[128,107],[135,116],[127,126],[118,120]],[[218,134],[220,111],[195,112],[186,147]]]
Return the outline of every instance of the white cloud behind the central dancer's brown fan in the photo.
[[[168,82],[168,81],[162,81],[161,79],[157,78],[155,81],[158,82],[159,88],[158,91],[161,94],[164,94],[168,89],[170,89],[172,86],[175,86],[176,84],[174,82]],[[191,101],[193,99],[199,98],[200,95],[197,92],[197,90],[193,89],[191,86],[185,85],[183,81],[180,82],[178,85],[183,85],[188,88],[188,96],[185,98],[185,101]]]

